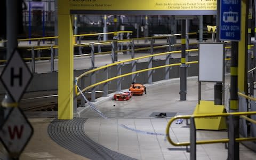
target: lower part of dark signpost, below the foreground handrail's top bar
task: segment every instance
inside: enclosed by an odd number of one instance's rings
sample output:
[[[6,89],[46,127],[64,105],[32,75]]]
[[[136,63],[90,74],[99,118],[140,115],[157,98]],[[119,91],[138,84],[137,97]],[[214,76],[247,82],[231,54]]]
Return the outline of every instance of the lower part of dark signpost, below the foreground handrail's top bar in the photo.
[[[228,160],[239,160],[239,117],[229,115],[228,117]]]

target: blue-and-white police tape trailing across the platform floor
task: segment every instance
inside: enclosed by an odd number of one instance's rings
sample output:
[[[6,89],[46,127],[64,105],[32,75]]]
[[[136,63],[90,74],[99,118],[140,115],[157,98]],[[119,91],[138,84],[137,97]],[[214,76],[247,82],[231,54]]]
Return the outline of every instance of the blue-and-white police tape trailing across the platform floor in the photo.
[[[77,86],[78,91],[81,93],[82,97],[84,98],[84,100],[87,102],[87,104],[94,110],[96,111],[96,113],[101,116],[104,119],[108,119],[107,116],[105,116],[97,107],[95,107],[84,95],[84,93],[81,91],[81,89]],[[136,132],[136,133],[141,133],[141,134],[149,134],[149,135],[163,135],[166,136],[166,134],[164,133],[155,133],[155,132],[147,132],[147,131],[141,131],[141,130],[137,130],[137,129],[133,129],[129,126],[126,126],[124,124],[118,124],[118,126],[123,127],[124,129]]]

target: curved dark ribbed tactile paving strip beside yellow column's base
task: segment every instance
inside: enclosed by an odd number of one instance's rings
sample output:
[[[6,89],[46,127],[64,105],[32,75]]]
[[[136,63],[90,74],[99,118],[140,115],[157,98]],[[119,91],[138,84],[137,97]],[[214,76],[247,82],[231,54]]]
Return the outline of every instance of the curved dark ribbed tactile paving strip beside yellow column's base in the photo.
[[[90,159],[134,159],[117,153],[92,141],[83,130],[87,118],[54,120],[48,126],[48,133],[58,145],[73,153]]]

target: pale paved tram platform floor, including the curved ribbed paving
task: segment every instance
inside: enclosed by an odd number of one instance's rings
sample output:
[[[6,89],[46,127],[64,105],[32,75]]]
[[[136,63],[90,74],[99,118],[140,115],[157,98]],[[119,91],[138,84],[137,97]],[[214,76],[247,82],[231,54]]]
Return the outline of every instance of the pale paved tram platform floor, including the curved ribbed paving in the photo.
[[[230,77],[226,75],[225,95]],[[20,159],[189,159],[185,147],[174,147],[162,135],[169,119],[175,115],[190,115],[198,101],[197,77],[187,81],[187,100],[180,101],[179,78],[146,84],[147,94],[133,96],[129,101],[115,101],[109,97],[93,104],[108,119],[99,116],[89,106],[73,120],[56,119],[57,112],[31,115],[34,135]],[[213,83],[202,84],[202,99],[213,100]],[[227,105],[228,96],[225,98]],[[54,113],[55,112],[55,113]],[[155,115],[165,112],[166,118]],[[135,129],[124,129],[123,124]],[[175,142],[189,141],[189,126],[172,124],[170,136]],[[197,140],[227,138],[227,130],[197,130]],[[240,146],[240,159],[255,159],[256,153]],[[197,159],[227,159],[224,143],[197,145]],[[2,158],[5,159],[5,158]]]

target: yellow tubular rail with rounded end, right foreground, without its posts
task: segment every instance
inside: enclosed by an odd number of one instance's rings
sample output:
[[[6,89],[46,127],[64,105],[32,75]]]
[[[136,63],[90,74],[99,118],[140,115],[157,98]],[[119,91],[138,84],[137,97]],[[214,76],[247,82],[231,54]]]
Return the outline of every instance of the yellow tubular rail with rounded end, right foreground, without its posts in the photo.
[[[194,118],[202,118],[202,117],[220,117],[220,116],[230,116],[230,115],[234,115],[234,116],[242,116],[242,118],[244,118],[244,115],[255,115],[256,111],[250,111],[250,112],[236,112],[236,113],[221,113],[221,114],[202,114],[202,115],[184,115],[184,116],[175,116],[173,118],[170,119],[170,121],[167,123],[166,126],[166,139],[173,145],[173,146],[189,146],[190,142],[173,142],[170,138],[170,126],[171,124],[175,121],[175,119],[189,119],[190,117],[194,117]],[[246,118],[247,120],[248,118]],[[250,119],[250,118],[249,118]],[[251,119],[253,120],[253,119]],[[250,121],[250,122],[254,122]],[[252,141],[252,140],[256,140],[256,137],[250,137],[250,138],[236,138],[236,142],[241,142],[241,141]],[[217,140],[200,140],[200,141],[196,141],[197,145],[202,145],[202,144],[209,144],[209,143],[226,143],[228,142],[229,139],[217,139]]]

